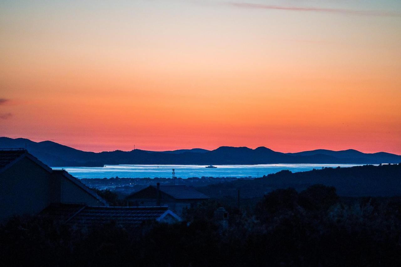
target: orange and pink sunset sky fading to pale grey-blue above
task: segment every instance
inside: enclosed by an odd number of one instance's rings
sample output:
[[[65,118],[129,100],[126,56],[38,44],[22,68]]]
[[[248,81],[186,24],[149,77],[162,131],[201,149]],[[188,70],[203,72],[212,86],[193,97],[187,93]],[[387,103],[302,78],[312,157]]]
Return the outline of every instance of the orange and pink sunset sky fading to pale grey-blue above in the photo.
[[[401,1],[0,1],[0,136],[401,154]]]

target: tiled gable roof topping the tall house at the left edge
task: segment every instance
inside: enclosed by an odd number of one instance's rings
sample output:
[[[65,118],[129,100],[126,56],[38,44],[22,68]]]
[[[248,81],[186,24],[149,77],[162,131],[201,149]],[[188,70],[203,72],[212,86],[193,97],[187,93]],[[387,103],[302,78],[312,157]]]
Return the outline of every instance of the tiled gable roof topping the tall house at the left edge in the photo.
[[[12,165],[22,160],[23,158],[29,158],[47,172],[51,172],[52,169],[38,160],[36,157],[32,156],[28,153],[26,149],[8,149],[8,150],[0,150],[0,172],[3,172],[10,168]]]

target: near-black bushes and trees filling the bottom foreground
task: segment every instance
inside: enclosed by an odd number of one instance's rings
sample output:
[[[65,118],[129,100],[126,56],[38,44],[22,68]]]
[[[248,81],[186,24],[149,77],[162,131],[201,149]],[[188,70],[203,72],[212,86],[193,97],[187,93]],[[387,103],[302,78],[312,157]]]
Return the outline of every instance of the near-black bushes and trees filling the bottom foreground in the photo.
[[[339,198],[333,187],[279,189],[213,219],[223,199],[176,225],[74,229],[49,218],[0,227],[3,266],[401,266],[401,198]]]

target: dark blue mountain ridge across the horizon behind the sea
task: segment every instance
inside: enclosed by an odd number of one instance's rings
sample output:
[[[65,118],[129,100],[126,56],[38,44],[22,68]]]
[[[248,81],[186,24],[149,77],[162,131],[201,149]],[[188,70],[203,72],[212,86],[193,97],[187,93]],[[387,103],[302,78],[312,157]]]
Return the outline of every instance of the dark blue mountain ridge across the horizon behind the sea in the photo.
[[[357,150],[312,150],[298,153],[275,152],[269,148],[221,146],[215,150],[201,148],[174,151],[132,150],[86,152],[52,141],[34,142],[25,138],[0,137],[0,148],[25,148],[39,160],[53,167],[103,166],[118,164],[379,164],[400,163],[401,156]]]

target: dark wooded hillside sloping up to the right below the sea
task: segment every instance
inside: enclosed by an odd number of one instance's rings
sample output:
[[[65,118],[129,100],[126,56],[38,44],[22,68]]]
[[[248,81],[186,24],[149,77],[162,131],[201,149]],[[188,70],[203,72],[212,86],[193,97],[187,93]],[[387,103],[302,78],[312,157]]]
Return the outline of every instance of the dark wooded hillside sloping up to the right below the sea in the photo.
[[[237,180],[197,188],[212,198],[237,196],[261,197],[278,188],[295,188],[298,192],[313,184],[334,186],[340,196],[401,195],[401,164],[364,165],[348,168],[324,168],[292,173],[283,170],[253,180]]]

